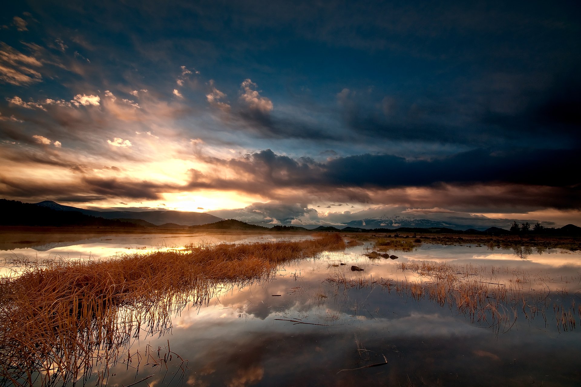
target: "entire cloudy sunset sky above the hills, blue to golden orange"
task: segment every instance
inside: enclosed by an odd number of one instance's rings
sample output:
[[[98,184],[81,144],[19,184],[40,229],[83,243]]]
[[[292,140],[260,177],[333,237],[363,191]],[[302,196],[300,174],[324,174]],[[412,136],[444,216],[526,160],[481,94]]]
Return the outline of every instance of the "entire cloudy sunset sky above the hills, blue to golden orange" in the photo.
[[[20,1],[0,197],[581,225],[578,2]]]

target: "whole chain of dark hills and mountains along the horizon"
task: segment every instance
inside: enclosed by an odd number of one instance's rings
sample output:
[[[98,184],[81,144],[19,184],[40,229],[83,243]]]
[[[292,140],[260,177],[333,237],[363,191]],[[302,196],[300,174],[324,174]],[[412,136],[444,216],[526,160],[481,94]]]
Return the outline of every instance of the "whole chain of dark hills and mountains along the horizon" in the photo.
[[[4,215],[0,225],[5,226],[105,226],[105,227],[162,227],[162,228],[184,228],[194,226],[196,229],[271,229],[272,231],[300,231],[300,230],[320,230],[333,231],[343,230],[345,232],[365,232],[379,229],[407,229],[414,232],[414,229],[432,229],[440,232],[486,232],[490,234],[505,234],[507,230],[497,227],[474,227],[470,225],[457,225],[449,222],[441,222],[430,219],[417,219],[411,216],[378,216],[376,218],[365,218],[352,220],[346,223],[329,225],[302,225],[296,218],[278,219],[276,224],[267,222],[243,223],[239,220],[224,220],[218,216],[205,212],[187,211],[97,211],[94,209],[84,209],[58,204],[55,201],[45,200],[38,203],[21,203],[19,201],[0,199],[0,210]],[[205,227],[196,227],[206,225]],[[252,226],[255,225],[255,226]],[[299,226],[300,225],[300,226]],[[547,233],[560,232],[562,234],[577,235],[580,228],[567,225],[562,229],[546,229]]]

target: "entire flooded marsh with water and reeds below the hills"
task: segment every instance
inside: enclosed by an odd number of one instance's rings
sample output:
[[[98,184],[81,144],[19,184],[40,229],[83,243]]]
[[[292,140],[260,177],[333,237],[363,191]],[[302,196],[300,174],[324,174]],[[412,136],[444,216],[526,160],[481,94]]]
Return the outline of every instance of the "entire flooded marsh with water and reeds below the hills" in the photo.
[[[578,385],[581,254],[530,242],[4,233],[2,385]]]

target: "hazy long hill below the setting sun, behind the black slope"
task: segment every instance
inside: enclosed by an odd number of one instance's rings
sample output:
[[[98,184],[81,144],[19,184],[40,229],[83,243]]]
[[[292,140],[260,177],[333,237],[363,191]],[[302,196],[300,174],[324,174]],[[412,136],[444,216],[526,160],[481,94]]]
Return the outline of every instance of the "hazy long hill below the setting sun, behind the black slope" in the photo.
[[[51,208],[56,211],[78,211],[84,215],[99,216],[105,219],[142,219],[153,225],[160,226],[164,223],[175,223],[177,225],[193,226],[204,225],[206,223],[223,220],[218,216],[206,214],[205,212],[188,211],[95,211],[94,209],[84,209],[62,205],[52,200],[45,200],[35,203],[40,207]]]

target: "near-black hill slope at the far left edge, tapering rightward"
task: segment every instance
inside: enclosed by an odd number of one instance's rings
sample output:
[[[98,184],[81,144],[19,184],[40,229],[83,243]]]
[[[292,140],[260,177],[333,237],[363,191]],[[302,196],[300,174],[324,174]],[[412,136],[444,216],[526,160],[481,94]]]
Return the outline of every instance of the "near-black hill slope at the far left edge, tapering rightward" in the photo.
[[[71,207],[74,208],[74,207]],[[98,218],[79,211],[62,211],[32,203],[0,199],[1,226],[139,227],[136,223]]]

